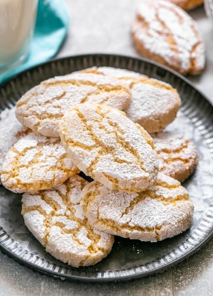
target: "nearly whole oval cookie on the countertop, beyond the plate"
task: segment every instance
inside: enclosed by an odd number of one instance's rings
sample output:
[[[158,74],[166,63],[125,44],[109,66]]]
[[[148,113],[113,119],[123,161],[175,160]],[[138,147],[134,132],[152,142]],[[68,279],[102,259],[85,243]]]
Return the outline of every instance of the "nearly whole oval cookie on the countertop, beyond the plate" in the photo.
[[[182,8],[159,0],[142,3],[136,14],[131,33],[138,52],[183,75],[201,73],[204,41],[196,22]]]

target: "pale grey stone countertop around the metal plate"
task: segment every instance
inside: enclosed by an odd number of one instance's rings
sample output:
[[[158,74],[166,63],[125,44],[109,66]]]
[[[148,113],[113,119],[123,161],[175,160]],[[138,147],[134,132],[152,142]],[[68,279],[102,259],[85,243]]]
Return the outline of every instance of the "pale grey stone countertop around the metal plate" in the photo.
[[[65,0],[70,30],[58,57],[84,53],[114,53],[139,57],[132,44],[129,24],[141,0]],[[213,25],[201,6],[190,12],[206,42],[206,67],[187,76],[213,102]],[[213,240],[192,258],[148,279],[127,283],[76,284],[62,282],[20,266],[0,253],[0,295],[213,295]]]

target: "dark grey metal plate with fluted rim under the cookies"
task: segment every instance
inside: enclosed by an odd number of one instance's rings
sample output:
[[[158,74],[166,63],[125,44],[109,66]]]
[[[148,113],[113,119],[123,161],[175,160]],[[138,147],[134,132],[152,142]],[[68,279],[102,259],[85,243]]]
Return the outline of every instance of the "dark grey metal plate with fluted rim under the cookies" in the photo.
[[[156,243],[115,237],[112,251],[100,263],[73,268],[48,254],[28,231],[21,215],[21,195],[0,186],[0,247],[21,264],[61,279],[106,282],[154,275],[197,252],[213,234],[213,107],[187,79],[166,67],[146,59],[90,54],[52,60],[15,76],[0,86],[0,108],[12,107],[44,79],[92,66],[126,68],[168,82],[178,90],[182,106],[167,130],[183,132],[199,152],[196,171],[183,183],[194,204],[191,228]]]

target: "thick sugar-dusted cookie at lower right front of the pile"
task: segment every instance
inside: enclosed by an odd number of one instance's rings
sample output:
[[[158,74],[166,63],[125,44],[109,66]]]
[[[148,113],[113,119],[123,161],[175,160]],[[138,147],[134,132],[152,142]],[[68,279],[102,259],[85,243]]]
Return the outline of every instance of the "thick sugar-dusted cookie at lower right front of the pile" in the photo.
[[[193,205],[180,182],[162,173],[143,192],[110,190],[93,181],[82,191],[80,205],[91,225],[130,239],[156,242],[191,226]]]

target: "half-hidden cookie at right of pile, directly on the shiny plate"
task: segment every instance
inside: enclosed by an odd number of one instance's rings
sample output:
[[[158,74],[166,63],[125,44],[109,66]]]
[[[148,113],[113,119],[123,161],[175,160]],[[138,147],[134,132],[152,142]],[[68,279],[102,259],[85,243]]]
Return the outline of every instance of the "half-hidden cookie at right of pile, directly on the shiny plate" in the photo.
[[[177,132],[151,135],[159,159],[159,171],[183,182],[196,168],[198,153],[194,144]]]

